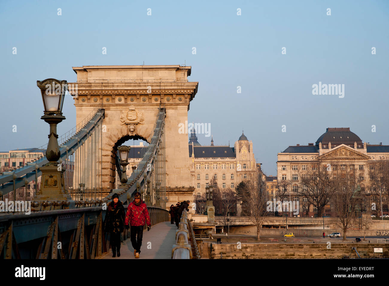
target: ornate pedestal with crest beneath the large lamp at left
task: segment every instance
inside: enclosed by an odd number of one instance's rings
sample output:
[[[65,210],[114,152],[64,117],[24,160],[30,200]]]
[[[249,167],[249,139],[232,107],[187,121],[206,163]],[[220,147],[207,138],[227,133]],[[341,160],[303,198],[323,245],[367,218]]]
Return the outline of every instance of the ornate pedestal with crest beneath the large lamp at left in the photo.
[[[65,168],[62,168],[61,171],[58,171],[56,165],[49,165],[40,167],[39,170],[42,172],[41,184],[39,190],[37,190],[33,200],[37,202],[50,201],[54,203],[56,201],[64,202],[68,200],[70,206],[74,205],[74,201],[67,190],[65,190],[65,181],[63,173]],[[69,206],[55,206],[47,207],[47,209],[68,209]],[[33,208],[33,210],[40,210],[40,207]]]

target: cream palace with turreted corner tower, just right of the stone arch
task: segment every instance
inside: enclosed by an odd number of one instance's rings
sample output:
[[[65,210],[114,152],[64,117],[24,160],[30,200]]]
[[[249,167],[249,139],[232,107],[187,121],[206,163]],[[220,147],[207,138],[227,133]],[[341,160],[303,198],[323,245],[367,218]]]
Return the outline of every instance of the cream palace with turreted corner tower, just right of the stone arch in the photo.
[[[196,198],[205,194],[205,188],[209,186],[211,179],[217,182],[223,193],[223,190],[235,189],[241,181],[249,179],[260,169],[260,164],[255,161],[252,142],[249,142],[243,132],[234,147],[214,145],[213,137],[209,146],[201,146],[195,130],[192,130],[189,137],[189,158]]]

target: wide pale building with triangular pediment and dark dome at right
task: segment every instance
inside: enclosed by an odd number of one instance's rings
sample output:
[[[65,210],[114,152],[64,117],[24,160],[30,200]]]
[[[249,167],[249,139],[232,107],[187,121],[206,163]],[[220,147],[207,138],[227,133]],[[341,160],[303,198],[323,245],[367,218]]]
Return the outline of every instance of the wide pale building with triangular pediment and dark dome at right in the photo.
[[[336,162],[336,165],[332,166],[334,170],[345,170],[345,168],[355,170],[356,176],[359,176],[361,181],[361,190],[370,191],[369,170],[373,170],[373,164],[379,160],[389,159],[389,145],[363,143],[355,133],[350,131],[350,128],[327,128],[315,143],[289,146],[278,153],[277,159],[277,181],[289,182],[286,188],[280,187],[285,191],[284,198],[280,199],[298,201],[300,216],[307,216],[307,214],[316,216],[317,208],[308,204],[307,198],[296,192],[304,188],[300,181],[300,175],[304,170],[312,168],[312,164],[320,160]],[[382,194],[383,213],[387,214],[387,192]],[[371,197],[377,200],[374,195]],[[325,213],[326,216],[336,216],[331,201],[325,206]]]

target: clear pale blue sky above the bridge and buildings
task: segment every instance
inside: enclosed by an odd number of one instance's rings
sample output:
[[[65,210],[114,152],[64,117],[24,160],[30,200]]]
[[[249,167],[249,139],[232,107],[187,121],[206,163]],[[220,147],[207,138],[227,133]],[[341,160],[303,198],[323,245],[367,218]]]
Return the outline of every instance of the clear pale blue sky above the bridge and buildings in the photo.
[[[389,145],[389,1],[2,0],[0,24],[0,151],[47,143],[37,80],[143,63],[191,66],[188,121],[208,124],[215,145],[244,130],[266,175],[277,153],[328,127]],[[319,82],[344,93],[314,95]],[[70,96],[63,114],[59,135],[75,126]]]

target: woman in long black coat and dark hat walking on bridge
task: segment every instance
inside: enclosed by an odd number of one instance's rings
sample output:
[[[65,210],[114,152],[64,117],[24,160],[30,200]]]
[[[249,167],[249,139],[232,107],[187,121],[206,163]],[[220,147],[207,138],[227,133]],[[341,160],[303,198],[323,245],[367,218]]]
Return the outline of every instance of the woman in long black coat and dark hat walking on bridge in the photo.
[[[110,242],[112,246],[112,257],[120,256],[121,233],[124,230],[124,207],[119,201],[119,195],[112,196],[112,202],[108,205],[107,214],[104,220],[104,230],[110,233]]]

